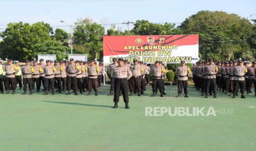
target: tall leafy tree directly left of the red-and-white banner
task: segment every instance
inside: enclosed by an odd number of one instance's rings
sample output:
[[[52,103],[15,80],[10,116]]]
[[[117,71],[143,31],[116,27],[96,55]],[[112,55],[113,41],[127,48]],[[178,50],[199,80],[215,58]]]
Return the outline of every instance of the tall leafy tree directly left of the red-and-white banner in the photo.
[[[75,22],[74,44],[79,45],[79,47],[75,48],[80,48],[80,51],[88,50],[89,57],[101,60],[103,55],[102,40],[104,32],[104,27],[96,22],[89,19],[78,19],[78,21]],[[75,52],[76,51],[77,49],[75,49]]]

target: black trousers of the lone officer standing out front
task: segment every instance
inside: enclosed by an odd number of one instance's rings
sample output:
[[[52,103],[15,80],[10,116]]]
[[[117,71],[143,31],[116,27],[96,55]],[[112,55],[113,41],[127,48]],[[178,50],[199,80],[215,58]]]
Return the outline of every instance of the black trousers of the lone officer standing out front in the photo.
[[[118,79],[115,78],[115,89],[114,89],[114,102],[119,102],[119,96],[120,96],[120,90],[123,95],[123,101],[124,102],[129,102],[129,97],[128,97],[128,80],[127,78],[122,78]]]

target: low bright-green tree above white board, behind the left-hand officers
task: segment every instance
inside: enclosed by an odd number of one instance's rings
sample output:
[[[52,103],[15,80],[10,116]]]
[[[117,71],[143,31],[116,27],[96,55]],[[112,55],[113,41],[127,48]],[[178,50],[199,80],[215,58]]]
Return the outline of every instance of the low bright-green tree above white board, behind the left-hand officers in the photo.
[[[67,59],[69,48],[63,46],[59,40],[46,40],[43,43],[35,44],[35,55],[56,54],[57,60]]]

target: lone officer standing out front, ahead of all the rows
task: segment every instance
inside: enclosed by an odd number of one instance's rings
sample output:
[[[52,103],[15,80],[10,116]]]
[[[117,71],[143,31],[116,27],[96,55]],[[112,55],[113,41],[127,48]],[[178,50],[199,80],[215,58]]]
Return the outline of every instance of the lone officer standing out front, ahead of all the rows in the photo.
[[[114,74],[115,77],[115,95],[114,95],[114,102],[115,106],[113,108],[118,107],[119,102],[119,94],[120,90],[123,95],[123,101],[126,103],[126,109],[129,109],[129,97],[128,97],[128,79],[132,77],[132,72],[130,71],[130,68],[127,66],[124,66],[124,60],[122,58],[118,59],[118,66],[116,66],[112,70],[112,74]]]

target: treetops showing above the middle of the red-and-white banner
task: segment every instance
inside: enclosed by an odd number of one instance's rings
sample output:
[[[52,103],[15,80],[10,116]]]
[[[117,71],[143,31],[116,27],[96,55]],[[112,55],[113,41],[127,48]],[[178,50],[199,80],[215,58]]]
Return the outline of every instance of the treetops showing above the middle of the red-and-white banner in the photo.
[[[181,34],[182,31],[176,28],[175,24],[169,24],[167,22],[161,25],[149,22],[148,20],[137,20],[132,33],[135,35],[168,35]]]

